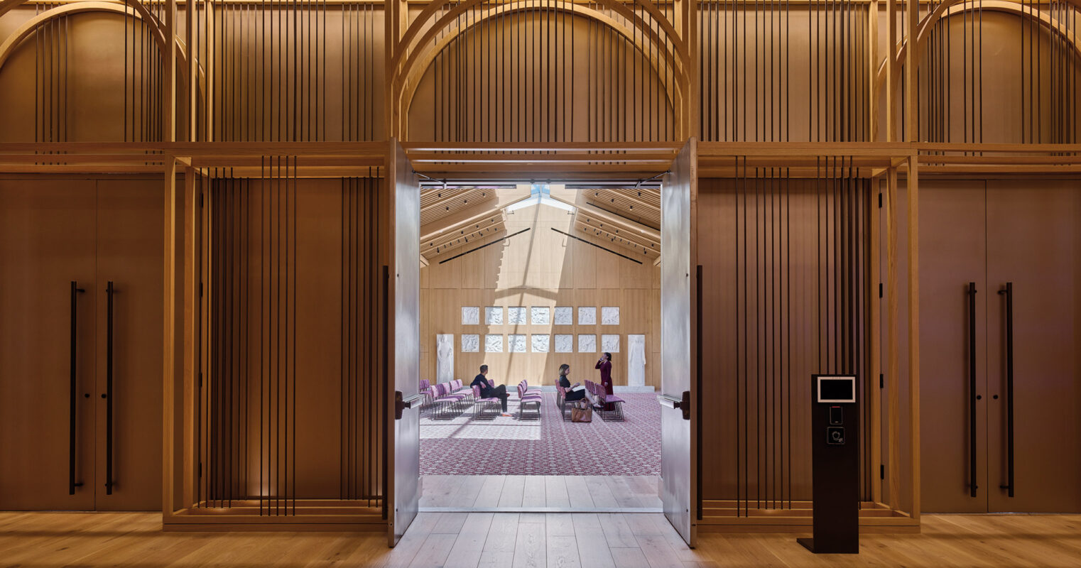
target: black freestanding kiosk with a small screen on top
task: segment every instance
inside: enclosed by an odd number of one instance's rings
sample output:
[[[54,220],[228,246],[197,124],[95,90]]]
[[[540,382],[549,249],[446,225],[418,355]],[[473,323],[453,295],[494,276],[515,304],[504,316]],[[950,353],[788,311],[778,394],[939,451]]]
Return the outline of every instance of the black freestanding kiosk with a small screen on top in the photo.
[[[854,375],[814,375],[811,446],[815,554],[859,553],[859,406]]]

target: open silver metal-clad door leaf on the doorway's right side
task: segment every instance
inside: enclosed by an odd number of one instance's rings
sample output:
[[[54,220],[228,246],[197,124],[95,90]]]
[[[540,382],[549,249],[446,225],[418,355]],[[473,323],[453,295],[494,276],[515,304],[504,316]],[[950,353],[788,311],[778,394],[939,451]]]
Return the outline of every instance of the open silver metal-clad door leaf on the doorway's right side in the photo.
[[[697,195],[697,141],[688,140],[660,185],[660,500],[665,516],[688,545],[697,532],[698,417],[692,401],[697,365],[693,204]]]

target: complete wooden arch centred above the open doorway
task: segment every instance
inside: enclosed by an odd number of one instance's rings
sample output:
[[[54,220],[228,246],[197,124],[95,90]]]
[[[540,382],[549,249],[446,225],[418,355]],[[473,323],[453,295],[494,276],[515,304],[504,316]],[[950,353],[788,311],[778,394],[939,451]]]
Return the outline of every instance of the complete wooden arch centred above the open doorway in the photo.
[[[436,55],[438,55],[439,51],[458,37],[459,33],[464,32],[464,30],[458,29],[455,33],[448,33],[443,38],[440,38],[437,42],[436,38],[438,35],[441,31],[449,29],[451,24],[456,22],[459,15],[464,14],[466,11],[472,9],[482,1],[483,0],[466,0],[448,11],[431,26],[426,26],[436,12],[441,10],[449,2],[449,0],[436,0],[425,6],[416,19],[414,19],[405,30],[401,41],[398,42],[395,49],[393,56],[390,58],[389,69],[391,71],[389,80],[387,81],[387,100],[390,103],[391,109],[389,117],[391,132],[396,132],[399,136],[408,132],[408,108],[412,102],[413,95],[415,94],[417,84],[421,82],[422,77],[427,71],[428,66],[431,60],[435,59]],[[622,15],[628,22],[631,22],[633,27],[628,29],[627,27],[619,25],[613,18],[601,14],[596,10],[579,6],[573,2],[570,6],[568,6],[566,3],[558,2],[557,0],[532,0],[529,2],[525,0],[517,0],[488,10],[484,14],[482,14],[481,19],[498,16],[505,12],[538,9],[564,11],[574,15],[596,19],[597,22],[613,28],[618,33],[630,38],[636,49],[641,50],[644,44],[656,46],[656,51],[663,53],[665,58],[670,62],[673,75],[676,76],[675,86],[666,84],[666,95],[669,97],[669,100],[673,102],[679,100],[682,97],[686,97],[690,85],[686,64],[686,42],[680,39],[671,23],[668,22],[663,14],[660,14],[652,2],[638,2],[643,6],[645,12],[650,14],[651,18],[657,22],[660,31],[664,32],[664,36],[662,36],[657,32],[657,29],[646,23],[644,18],[639,17],[635,12],[628,10],[627,6],[618,0],[600,0],[600,3],[613,12]],[[423,37],[417,39],[422,29],[426,31]],[[467,26],[465,29],[469,29],[469,27]],[[635,40],[635,31],[640,32],[642,38],[648,41],[642,42]],[[671,45],[671,49],[669,49],[669,44]],[[419,48],[422,45],[428,45],[428,48],[422,49]],[[651,65],[655,65],[652,57]],[[673,112],[676,113],[676,124],[680,130],[682,130],[682,122],[680,120],[682,106],[683,105],[680,104],[672,105]]]

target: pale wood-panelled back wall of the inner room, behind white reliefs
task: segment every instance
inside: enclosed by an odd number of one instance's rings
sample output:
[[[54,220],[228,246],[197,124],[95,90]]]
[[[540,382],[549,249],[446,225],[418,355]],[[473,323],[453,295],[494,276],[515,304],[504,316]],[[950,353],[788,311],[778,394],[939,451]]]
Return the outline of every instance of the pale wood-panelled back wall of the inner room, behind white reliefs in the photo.
[[[644,334],[646,349],[645,383],[659,386],[659,340],[656,322],[659,322],[659,283],[654,282],[657,269],[652,261],[639,265],[590,244],[560,234],[551,229],[572,232],[574,214],[548,205],[531,205],[507,215],[506,232],[529,231],[486,246],[475,253],[442,262],[433,257],[421,270],[421,378],[435,380],[436,335],[454,334],[455,377],[472,380],[481,364],[490,367],[489,377],[496,383],[513,387],[522,379],[530,384],[551,384],[558,377],[559,365],[571,365],[575,380],[600,380],[593,365],[601,350],[602,334],[619,335],[619,353],[613,353],[612,377],[615,384],[627,383],[627,335]],[[501,231],[502,232],[502,231]],[[580,231],[579,231],[580,233]],[[477,246],[502,235],[488,236],[476,242]],[[613,247],[608,240],[591,241],[631,256],[630,251]],[[473,241],[470,240],[472,248]],[[468,248],[462,247],[455,254]],[[448,258],[454,255],[449,255]],[[462,325],[462,307],[480,308],[480,325]],[[504,325],[485,325],[485,307],[504,308]],[[573,325],[509,325],[507,307],[548,307],[549,317],[553,308],[574,308]],[[577,308],[597,308],[597,325],[578,325]],[[619,307],[619,325],[600,325],[601,308]],[[529,315],[529,314],[528,314]],[[551,336],[548,353],[507,352],[507,336],[524,334],[526,341],[532,334]],[[479,353],[462,352],[462,334],[480,336]],[[484,353],[484,335],[504,337],[503,353]],[[573,353],[555,352],[555,335],[574,335]],[[597,336],[596,353],[578,353],[577,336]]]

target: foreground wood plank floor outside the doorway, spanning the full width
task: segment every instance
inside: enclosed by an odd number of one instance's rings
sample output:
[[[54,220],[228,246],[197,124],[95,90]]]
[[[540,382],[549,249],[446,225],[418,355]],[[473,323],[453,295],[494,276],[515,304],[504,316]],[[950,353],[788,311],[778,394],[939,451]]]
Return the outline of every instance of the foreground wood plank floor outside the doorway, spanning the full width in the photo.
[[[1081,515],[925,516],[922,535],[866,535],[853,556],[795,535],[704,535],[692,551],[659,514],[422,513],[393,550],[381,533],[160,527],[155,513],[0,513],[0,566],[1081,566]]]

